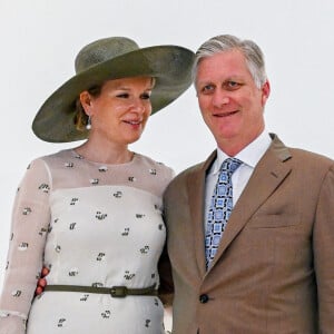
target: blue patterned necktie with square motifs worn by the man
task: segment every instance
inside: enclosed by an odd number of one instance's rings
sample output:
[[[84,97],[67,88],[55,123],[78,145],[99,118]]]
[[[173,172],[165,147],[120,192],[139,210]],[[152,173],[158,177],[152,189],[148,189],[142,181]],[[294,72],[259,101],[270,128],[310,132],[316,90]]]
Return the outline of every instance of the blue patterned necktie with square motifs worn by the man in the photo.
[[[205,236],[206,267],[214,259],[233,208],[232,175],[240,166],[236,158],[223,161],[212,197]]]

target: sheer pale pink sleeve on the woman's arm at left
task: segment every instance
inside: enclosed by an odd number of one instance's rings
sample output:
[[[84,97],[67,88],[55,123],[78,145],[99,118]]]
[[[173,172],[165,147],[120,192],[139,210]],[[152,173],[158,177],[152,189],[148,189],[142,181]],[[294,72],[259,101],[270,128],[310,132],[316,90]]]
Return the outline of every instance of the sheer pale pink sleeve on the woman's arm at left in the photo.
[[[50,173],[33,160],[16,195],[4,282],[0,298],[0,334],[24,333],[24,323],[43,262],[50,223]]]

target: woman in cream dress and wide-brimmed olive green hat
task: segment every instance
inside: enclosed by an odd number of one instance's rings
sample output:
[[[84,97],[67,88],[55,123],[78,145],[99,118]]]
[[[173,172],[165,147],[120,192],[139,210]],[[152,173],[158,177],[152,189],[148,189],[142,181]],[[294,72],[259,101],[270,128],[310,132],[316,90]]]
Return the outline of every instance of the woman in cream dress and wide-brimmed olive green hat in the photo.
[[[193,57],[122,37],[78,53],[76,76],[47,99],[32,129],[51,143],[88,139],[28,167],[13,209],[1,334],[164,332],[157,262],[173,170],[128,145],[189,87]],[[48,286],[32,301],[42,266]]]

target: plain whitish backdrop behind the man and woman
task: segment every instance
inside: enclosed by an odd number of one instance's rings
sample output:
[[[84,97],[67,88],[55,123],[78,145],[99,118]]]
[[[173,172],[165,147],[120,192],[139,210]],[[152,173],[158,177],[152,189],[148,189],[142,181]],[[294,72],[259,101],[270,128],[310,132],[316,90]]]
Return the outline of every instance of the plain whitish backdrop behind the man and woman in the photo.
[[[81,47],[109,36],[193,50],[222,33],[253,39],[265,53],[272,86],[267,129],[286,145],[333,158],[333,0],[0,0],[0,286],[12,202],[27,165],[72,146],[41,141],[31,121],[73,75]],[[177,173],[214,148],[193,87],[153,116],[132,146]]]

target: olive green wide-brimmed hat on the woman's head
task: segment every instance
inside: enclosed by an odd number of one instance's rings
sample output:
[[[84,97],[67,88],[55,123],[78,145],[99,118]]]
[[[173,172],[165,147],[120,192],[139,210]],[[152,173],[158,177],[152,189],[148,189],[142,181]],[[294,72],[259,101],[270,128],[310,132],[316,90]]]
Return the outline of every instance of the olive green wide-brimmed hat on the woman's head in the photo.
[[[86,139],[75,125],[76,100],[84,90],[106,80],[149,76],[153,114],[178,98],[191,85],[194,52],[178,46],[139,48],[131,39],[110,37],[84,47],[76,57],[76,75],[58,88],[37,112],[32,130],[50,143]]]

